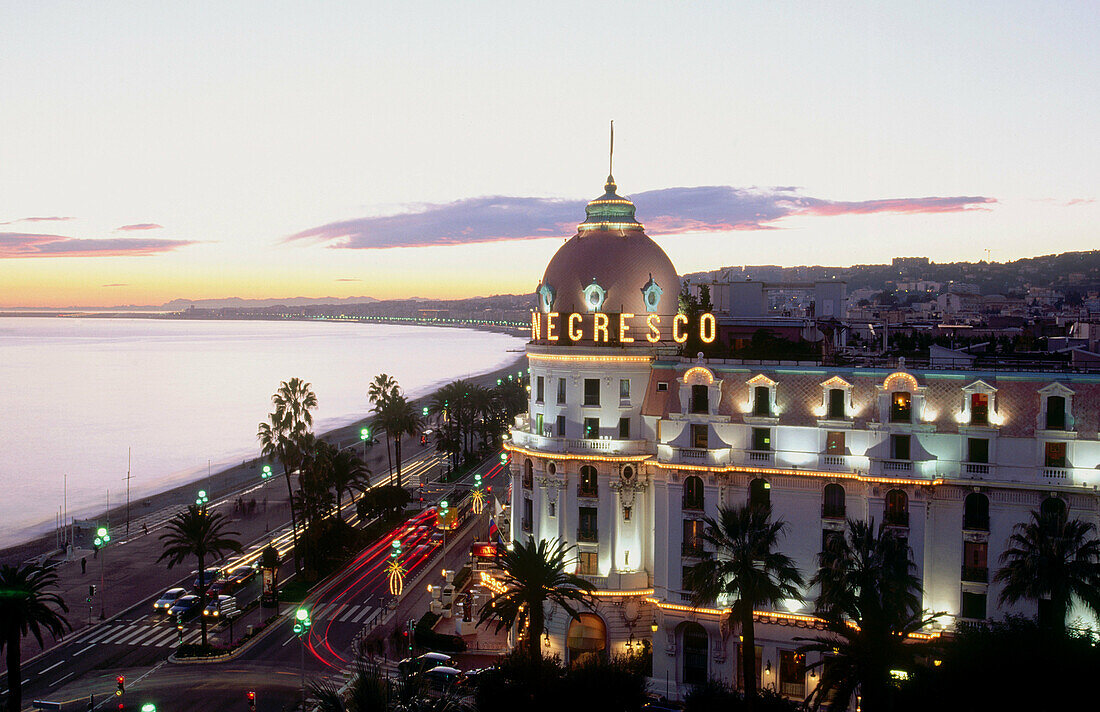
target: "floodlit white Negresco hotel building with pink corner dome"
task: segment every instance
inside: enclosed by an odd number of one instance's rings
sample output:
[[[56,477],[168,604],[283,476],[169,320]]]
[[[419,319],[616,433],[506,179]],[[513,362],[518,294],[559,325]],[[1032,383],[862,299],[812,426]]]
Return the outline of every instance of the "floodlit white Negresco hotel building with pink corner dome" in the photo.
[[[578,618],[548,611],[546,653],[649,640],[654,686],[671,698],[711,677],[737,683],[724,602],[693,606],[683,577],[706,554],[704,518],[746,502],[788,523],[782,550],[806,580],[848,518],[892,527],[912,547],[924,606],[947,612],[924,636],[1034,614],[999,606],[993,573],[1033,510],[1098,522],[1100,376],[681,354],[696,325],[678,317],[676,271],[634,211],[608,176],[531,315],[529,412],[506,445],[509,536],[575,546],[597,601]],[[717,337],[713,317],[697,328],[703,343]],[[814,595],[756,615],[759,682],[792,698],[815,680],[795,653],[822,626]]]

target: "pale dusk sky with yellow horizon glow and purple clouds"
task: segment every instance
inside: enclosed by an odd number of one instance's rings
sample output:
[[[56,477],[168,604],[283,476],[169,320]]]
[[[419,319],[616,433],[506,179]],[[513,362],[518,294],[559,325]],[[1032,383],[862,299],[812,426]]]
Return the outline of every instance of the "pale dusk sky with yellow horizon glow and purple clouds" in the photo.
[[[1096,2],[0,0],[0,307],[1100,245]]]

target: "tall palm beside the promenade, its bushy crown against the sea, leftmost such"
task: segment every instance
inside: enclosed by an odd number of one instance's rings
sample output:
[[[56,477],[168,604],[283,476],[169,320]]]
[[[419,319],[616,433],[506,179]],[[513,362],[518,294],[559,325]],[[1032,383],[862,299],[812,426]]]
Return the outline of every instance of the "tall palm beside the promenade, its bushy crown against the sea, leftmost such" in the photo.
[[[294,567],[299,570],[298,518],[294,504],[294,486],[290,473],[301,467],[305,457],[306,437],[311,435],[317,395],[309,383],[301,379],[290,379],[279,384],[272,395],[275,409],[261,423],[256,432],[260,452],[265,458],[276,458],[283,464],[286,478],[286,493],[290,502],[290,532],[294,538]]]

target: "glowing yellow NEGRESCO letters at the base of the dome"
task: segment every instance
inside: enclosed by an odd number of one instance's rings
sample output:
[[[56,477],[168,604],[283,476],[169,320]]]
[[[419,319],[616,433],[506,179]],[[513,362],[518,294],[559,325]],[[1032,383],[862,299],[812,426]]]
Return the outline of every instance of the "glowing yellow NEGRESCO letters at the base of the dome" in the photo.
[[[613,317],[617,324],[612,322]],[[711,343],[718,336],[718,321],[710,313],[701,315],[698,322],[693,327],[683,314],[675,315],[670,324],[662,325],[658,314],[609,315],[597,311],[586,319],[585,315],[576,313],[531,311],[534,341],[578,342],[591,339],[593,343],[634,343],[645,333],[646,341],[650,343],[669,339],[683,343],[693,328],[698,329],[698,338],[703,343]]]

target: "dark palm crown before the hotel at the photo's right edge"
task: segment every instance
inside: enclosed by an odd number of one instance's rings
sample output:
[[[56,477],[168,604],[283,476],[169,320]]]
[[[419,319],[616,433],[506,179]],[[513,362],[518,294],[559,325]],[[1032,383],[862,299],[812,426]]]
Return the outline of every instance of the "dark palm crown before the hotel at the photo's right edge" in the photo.
[[[1038,602],[1038,620],[1059,635],[1076,598],[1100,613],[1100,539],[1097,528],[1059,514],[1031,513],[1015,526],[994,581],[1001,603]]]

